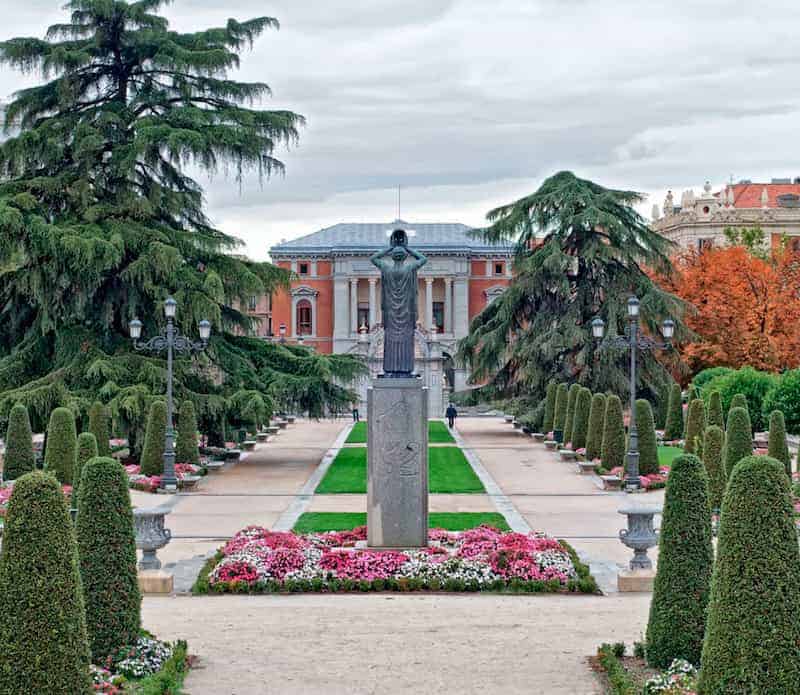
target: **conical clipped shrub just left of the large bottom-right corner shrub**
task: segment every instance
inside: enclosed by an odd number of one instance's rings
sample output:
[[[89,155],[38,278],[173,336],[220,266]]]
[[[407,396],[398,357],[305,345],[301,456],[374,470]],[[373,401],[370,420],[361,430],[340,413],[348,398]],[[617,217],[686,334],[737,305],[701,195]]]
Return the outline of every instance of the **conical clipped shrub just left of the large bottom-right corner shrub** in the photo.
[[[684,454],[672,463],[664,496],[646,638],[654,668],[673,659],[700,663],[713,564],[708,477],[699,458]]]

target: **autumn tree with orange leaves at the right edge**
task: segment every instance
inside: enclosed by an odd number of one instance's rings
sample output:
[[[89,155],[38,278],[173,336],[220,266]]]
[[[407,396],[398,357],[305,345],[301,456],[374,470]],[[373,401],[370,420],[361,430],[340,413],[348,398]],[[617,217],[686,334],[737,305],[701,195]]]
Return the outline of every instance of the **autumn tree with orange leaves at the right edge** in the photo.
[[[717,365],[782,371],[800,366],[800,254],[759,256],[745,246],[689,251],[663,286],[695,307],[698,339],[682,347],[693,373]]]

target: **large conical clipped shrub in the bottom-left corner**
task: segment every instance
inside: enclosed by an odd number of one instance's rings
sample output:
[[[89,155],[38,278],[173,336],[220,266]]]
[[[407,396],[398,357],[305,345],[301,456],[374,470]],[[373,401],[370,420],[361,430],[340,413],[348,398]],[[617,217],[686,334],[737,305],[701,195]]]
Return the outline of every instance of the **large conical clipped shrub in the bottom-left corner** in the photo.
[[[56,480],[35,471],[14,484],[0,552],[0,693],[91,688],[72,522]]]

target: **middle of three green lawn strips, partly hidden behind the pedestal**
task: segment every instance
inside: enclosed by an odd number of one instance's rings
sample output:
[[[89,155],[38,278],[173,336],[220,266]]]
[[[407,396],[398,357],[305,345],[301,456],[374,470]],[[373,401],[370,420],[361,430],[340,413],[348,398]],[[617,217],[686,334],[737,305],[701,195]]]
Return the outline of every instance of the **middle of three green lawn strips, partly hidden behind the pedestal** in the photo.
[[[481,481],[457,446],[428,449],[428,490],[435,493],[482,493]],[[342,449],[333,460],[316,494],[366,494],[367,450]]]

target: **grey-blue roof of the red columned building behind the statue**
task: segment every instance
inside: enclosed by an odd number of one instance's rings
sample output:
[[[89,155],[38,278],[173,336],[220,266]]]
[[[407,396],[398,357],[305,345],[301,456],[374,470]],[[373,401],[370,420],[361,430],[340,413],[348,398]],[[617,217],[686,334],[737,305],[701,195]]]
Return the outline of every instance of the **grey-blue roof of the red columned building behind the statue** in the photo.
[[[415,223],[405,220],[393,222],[340,222],[313,234],[284,241],[270,249],[272,255],[297,253],[343,253],[375,252],[386,248],[389,230],[412,230],[409,245],[420,251],[499,253],[505,255],[512,250],[509,245],[493,246],[468,234],[471,227],[457,223]]]

